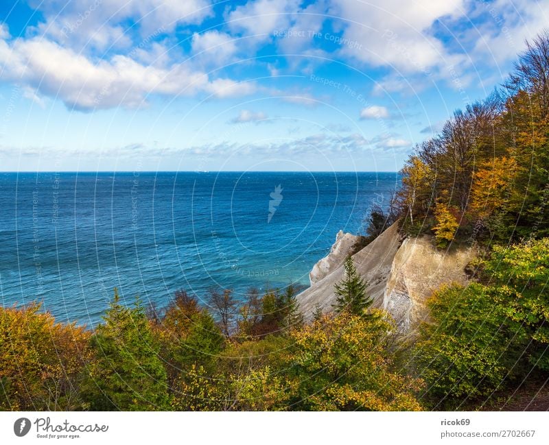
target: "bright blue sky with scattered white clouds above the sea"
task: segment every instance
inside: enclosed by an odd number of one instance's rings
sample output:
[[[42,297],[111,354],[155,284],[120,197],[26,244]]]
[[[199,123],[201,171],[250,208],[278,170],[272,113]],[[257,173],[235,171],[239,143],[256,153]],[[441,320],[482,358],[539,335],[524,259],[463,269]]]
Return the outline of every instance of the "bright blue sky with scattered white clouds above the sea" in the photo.
[[[0,171],[397,171],[536,0],[2,0]]]

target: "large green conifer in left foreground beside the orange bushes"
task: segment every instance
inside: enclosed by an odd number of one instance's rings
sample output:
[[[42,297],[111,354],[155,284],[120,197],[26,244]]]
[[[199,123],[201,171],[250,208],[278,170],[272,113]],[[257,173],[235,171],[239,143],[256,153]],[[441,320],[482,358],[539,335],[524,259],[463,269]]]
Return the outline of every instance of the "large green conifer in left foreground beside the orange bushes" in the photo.
[[[167,407],[167,376],[139,298],[132,307],[115,297],[91,338],[84,396],[92,410],[145,411]]]

